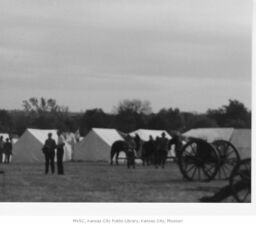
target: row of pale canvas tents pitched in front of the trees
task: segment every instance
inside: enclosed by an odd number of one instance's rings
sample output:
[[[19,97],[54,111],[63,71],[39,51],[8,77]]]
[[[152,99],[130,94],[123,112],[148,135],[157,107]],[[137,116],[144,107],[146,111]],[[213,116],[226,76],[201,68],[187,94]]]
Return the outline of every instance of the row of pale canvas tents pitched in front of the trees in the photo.
[[[56,140],[57,130],[27,129],[18,142],[13,145],[14,162],[43,162],[44,155],[42,147],[47,139],[48,133],[53,134]],[[154,139],[165,133],[168,139],[170,134],[164,130],[140,129],[130,133],[131,136],[138,134],[143,141],[149,136]],[[241,158],[251,156],[251,130],[233,128],[208,128],[192,129],[183,134],[186,137],[197,137],[213,142],[222,139],[230,141],[238,149]],[[124,140],[123,133],[115,129],[93,128],[88,135],[79,142],[76,142],[74,134],[66,134],[64,150],[64,161],[109,161],[112,144],[117,140]],[[173,153],[173,152],[172,152]],[[121,156],[122,157],[122,156]]]

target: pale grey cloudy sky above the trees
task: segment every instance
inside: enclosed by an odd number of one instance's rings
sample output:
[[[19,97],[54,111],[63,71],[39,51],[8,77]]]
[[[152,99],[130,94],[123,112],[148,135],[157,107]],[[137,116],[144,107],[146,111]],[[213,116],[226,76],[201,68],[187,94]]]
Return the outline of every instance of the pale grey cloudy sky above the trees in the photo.
[[[0,0],[0,108],[251,109],[250,0]]]

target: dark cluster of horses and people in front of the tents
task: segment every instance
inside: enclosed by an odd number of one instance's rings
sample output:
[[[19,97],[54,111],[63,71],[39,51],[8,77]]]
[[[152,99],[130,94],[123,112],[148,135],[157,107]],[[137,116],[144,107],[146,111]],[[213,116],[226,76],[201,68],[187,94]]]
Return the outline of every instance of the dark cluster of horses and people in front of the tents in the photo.
[[[167,139],[162,137],[153,139],[149,137],[148,141],[143,141],[138,135],[134,138],[130,135],[123,136],[124,140],[118,140],[113,143],[110,153],[110,164],[118,165],[119,154],[125,153],[127,167],[135,168],[135,159],[140,159],[143,166],[154,165],[156,168],[165,167],[168,151],[172,145],[175,145],[175,151],[179,149],[181,142],[178,136]]]

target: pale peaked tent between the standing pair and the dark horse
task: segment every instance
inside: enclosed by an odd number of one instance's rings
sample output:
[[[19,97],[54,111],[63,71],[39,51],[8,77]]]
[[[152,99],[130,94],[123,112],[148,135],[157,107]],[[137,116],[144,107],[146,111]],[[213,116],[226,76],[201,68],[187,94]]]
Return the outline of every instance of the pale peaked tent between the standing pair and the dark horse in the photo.
[[[93,128],[75,145],[74,160],[109,161],[111,146],[118,140],[124,139],[115,129]],[[122,157],[121,153],[120,157]]]

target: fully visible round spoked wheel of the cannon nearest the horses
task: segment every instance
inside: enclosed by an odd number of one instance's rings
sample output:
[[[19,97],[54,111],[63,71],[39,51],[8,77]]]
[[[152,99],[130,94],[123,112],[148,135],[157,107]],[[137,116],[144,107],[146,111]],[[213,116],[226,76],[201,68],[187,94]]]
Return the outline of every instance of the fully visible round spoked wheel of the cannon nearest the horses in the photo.
[[[218,155],[213,145],[192,139],[181,149],[178,165],[185,179],[210,181],[218,172]]]

